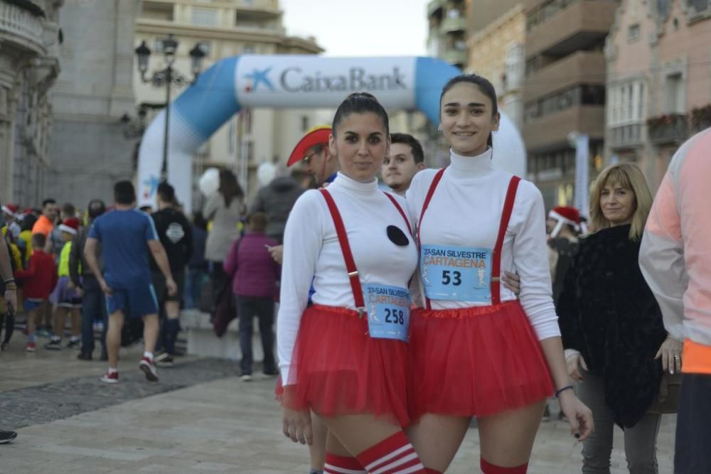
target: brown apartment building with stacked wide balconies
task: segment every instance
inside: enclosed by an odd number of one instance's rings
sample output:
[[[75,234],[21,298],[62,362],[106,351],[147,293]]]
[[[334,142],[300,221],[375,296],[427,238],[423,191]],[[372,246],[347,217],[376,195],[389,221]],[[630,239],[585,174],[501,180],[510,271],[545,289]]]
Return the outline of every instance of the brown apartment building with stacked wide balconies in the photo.
[[[616,0],[525,0],[523,139],[529,178],[547,207],[572,203],[575,150],[570,132],[589,136],[589,165],[602,168],[605,38]]]

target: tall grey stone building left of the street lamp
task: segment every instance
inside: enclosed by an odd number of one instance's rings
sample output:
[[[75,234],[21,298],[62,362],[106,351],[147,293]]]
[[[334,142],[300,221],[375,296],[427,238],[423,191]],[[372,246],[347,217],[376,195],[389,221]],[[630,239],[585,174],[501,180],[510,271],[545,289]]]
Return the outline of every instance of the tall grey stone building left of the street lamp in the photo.
[[[134,111],[134,23],[139,0],[65,0],[62,72],[52,92],[54,133],[46,192],[85,208],[111,203],[112,185],[133,177],[137,137],[121,117]]]

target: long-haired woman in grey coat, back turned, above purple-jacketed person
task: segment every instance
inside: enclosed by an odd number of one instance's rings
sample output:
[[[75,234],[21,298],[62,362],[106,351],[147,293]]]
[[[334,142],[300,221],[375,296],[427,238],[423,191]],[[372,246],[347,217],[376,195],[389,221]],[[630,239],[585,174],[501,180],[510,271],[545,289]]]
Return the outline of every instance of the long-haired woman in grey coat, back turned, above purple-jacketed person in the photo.
[[[220,299],[224,291],[228,291],[223,262],[230,252],[232,242],[240,237],[237,226],[245,211],[244,197],[235,173],[222,170],[220,188],[208,198],[203,208],[203,216],[213,225],[205,242],[205,260],[208,260],[211,266],[215,301]]]

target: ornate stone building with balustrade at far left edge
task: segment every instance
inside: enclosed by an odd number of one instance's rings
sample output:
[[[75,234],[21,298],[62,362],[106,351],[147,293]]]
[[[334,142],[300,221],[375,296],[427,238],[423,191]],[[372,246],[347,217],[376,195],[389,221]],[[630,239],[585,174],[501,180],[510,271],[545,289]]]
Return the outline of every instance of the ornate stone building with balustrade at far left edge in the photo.
[[[63,0],[0,0],[0,200],[41,203],[50,168],[50,89]]]

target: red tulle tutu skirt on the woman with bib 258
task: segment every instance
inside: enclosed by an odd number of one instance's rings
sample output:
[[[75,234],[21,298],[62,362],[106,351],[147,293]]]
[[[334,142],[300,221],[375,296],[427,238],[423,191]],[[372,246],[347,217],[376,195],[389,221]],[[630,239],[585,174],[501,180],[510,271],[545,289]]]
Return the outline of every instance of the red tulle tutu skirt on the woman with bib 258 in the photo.
[[[368,318],[345,308],[304,311],[286,387],[277,399],[321,416],[375,414],[407,426],[407,343],[375,339]]]

